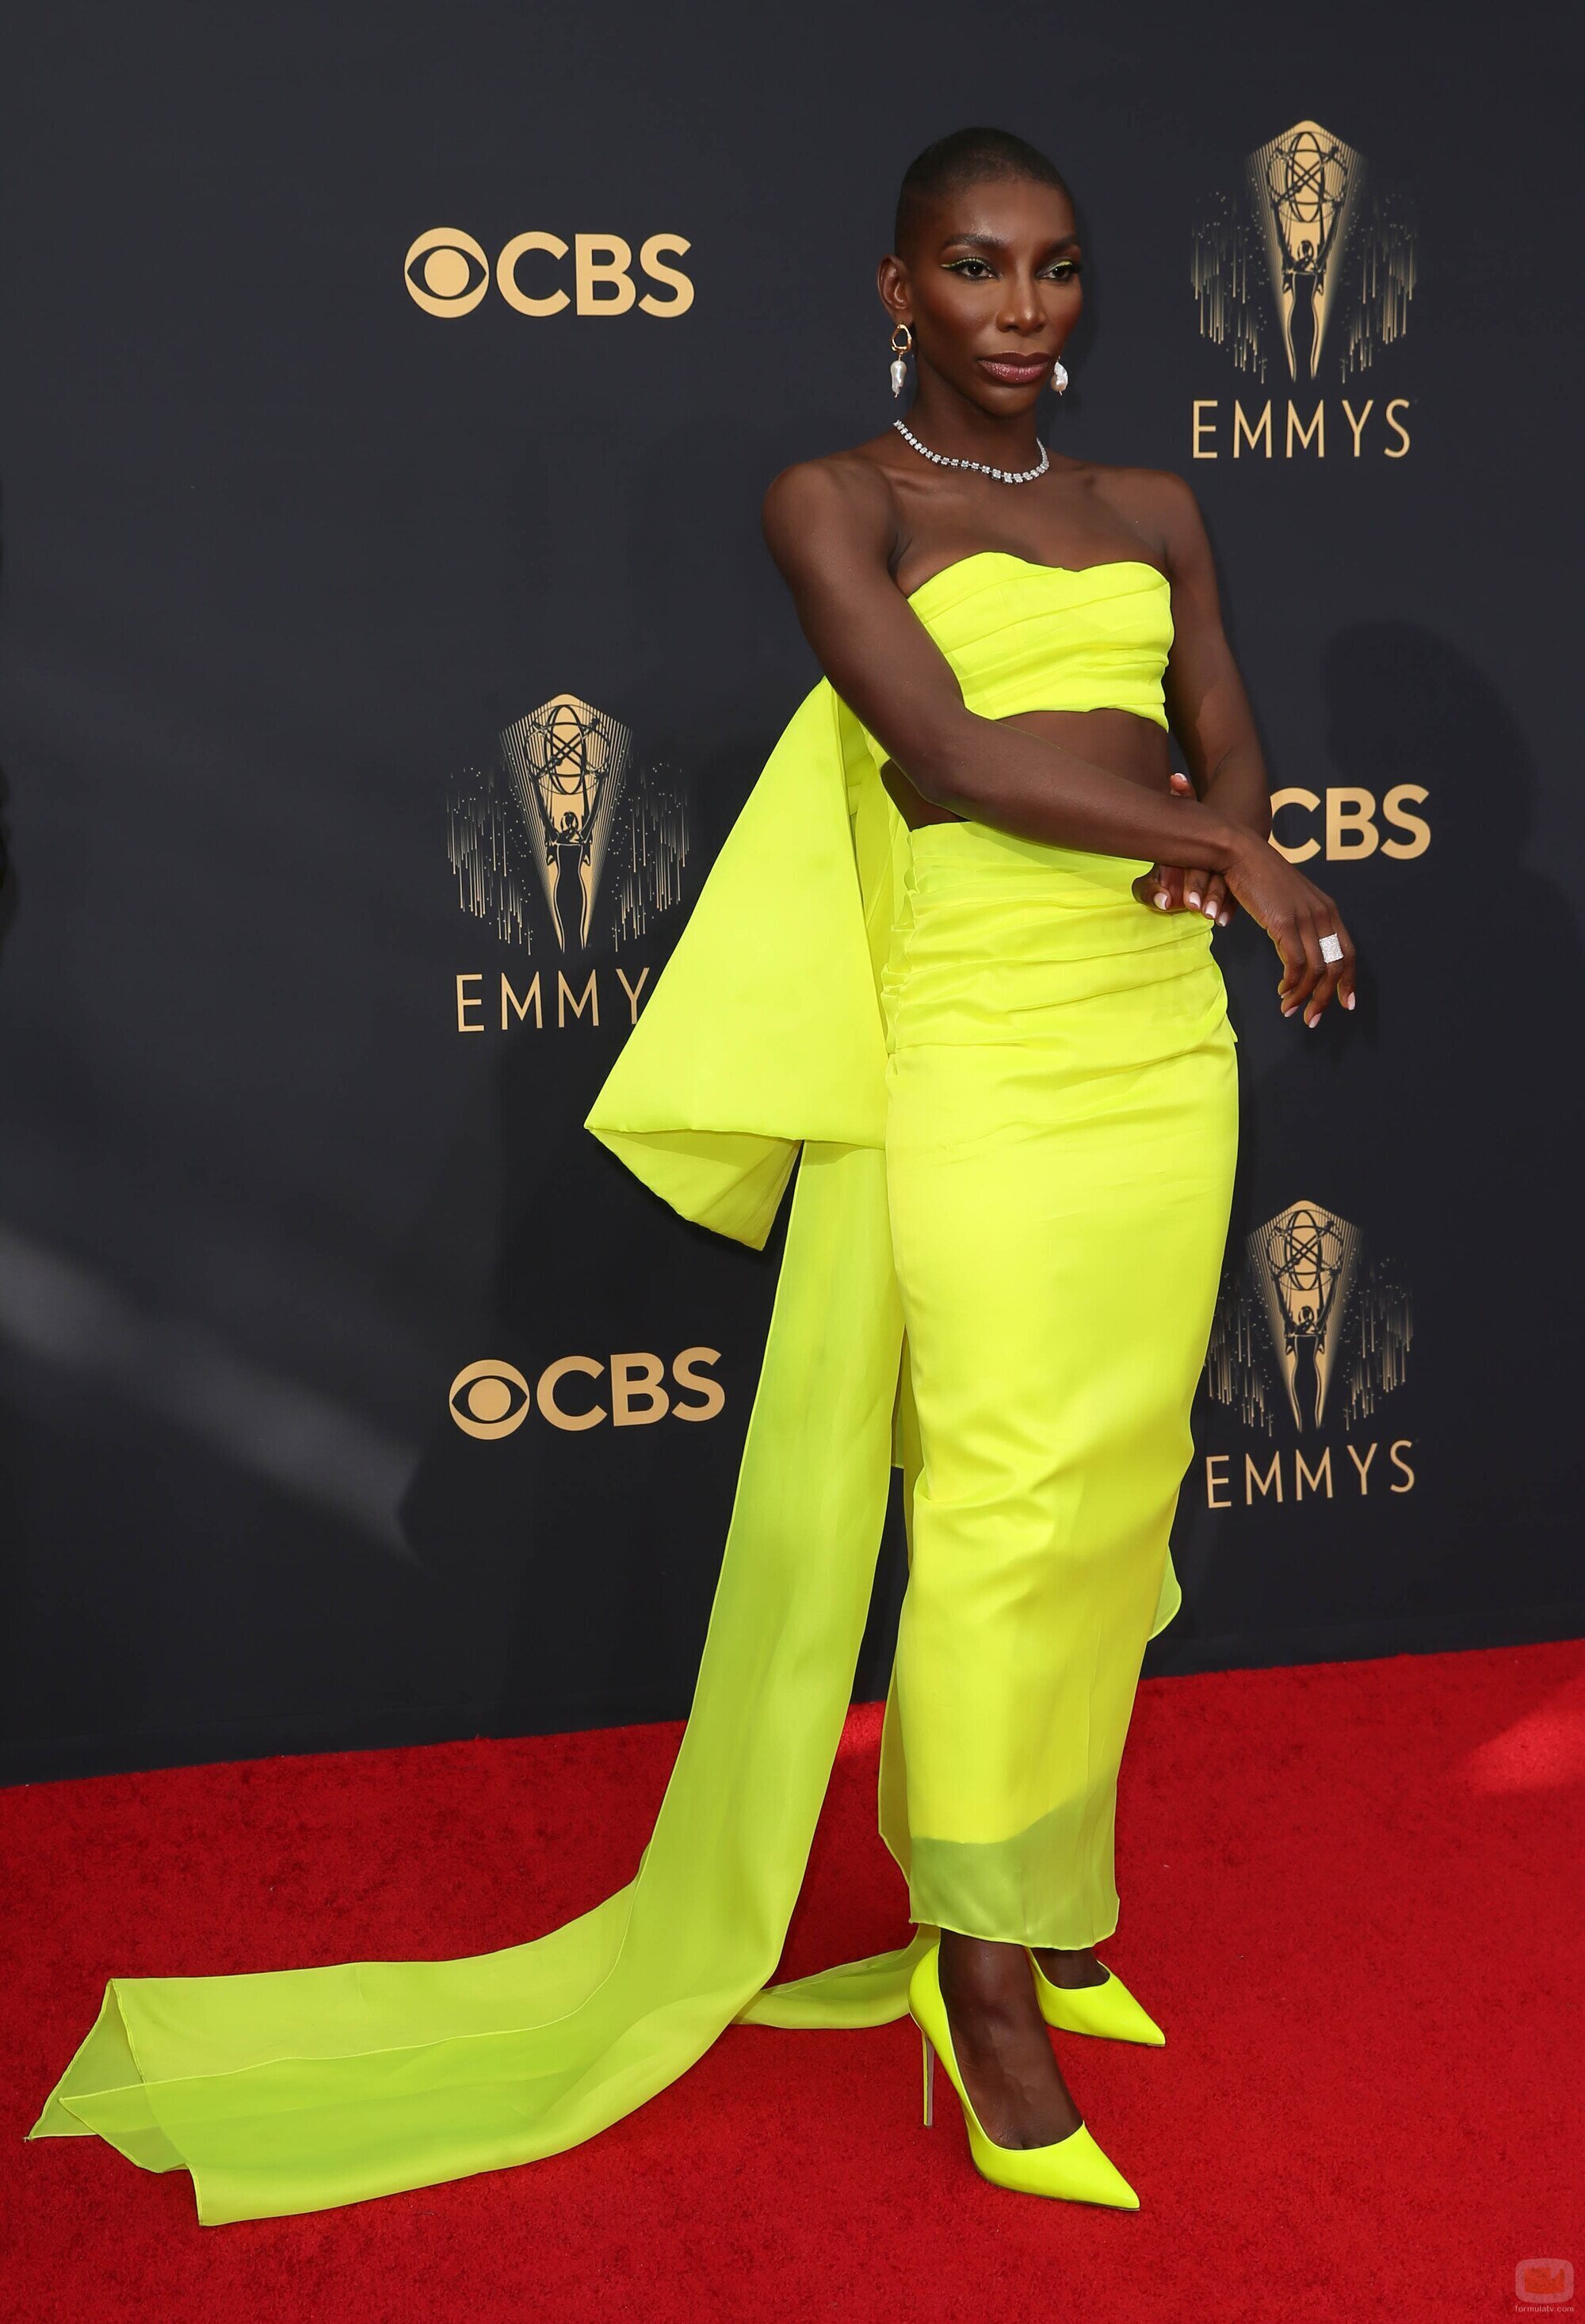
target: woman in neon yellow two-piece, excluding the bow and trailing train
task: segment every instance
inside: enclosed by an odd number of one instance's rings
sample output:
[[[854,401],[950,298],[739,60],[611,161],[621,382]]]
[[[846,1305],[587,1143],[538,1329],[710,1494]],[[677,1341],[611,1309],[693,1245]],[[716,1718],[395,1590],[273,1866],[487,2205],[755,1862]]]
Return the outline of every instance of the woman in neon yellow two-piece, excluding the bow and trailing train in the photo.
[[[916,2013],[923,1987],[927,2033],[951,2027],[981,2168],[1004,2175],[990,2143],[1053,2164],[1067,2143],[1076,2189],[1125,2201],[1116,2173],[1085,2187],[1025,1945],[1055,2022],[1057,1996],[1104,1989],[1116,1755],[1232,1185],[1206,923],[1253,911],[1283,955],[1281,1009],[1311,1027],[1334,992],[1353,1006],[1353,948],[1267,841],[1192,495],[1037,439],[1081,270],[1043,156],[988,130],[925,151],[878,277],[916,363],[909,421],[779,476],[765,530],[916,834],[883,985],[923,1427],[895,1703],[913,1917],[941,1927],[939,1994],[916,1978]],[[1169,767],[1167,639],[1197,799]],[[1134,876],[1136,858],[1155,862]],[[1169,937],[1141,904],[1204,918]],[[1160,2038],[1143,2013],[1132,2031]]]

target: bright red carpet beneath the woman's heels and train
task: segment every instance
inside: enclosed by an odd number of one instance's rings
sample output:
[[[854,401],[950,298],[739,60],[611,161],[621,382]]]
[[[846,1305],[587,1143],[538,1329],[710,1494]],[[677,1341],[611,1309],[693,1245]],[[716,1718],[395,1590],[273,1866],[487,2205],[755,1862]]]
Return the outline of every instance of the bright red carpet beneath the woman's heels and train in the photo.
[[[307,2219],[200,2229],[186,2175],[21,2143],[107,1971],[479,1952],[583,1910],[632,1875],[676,1734],[0,1794],[0,2315],[1448,2324],[1515,2315],[1552,2257],[1585,2308],[1578,1641],[1141,1687],[1104,1950],[1167,2047],[1062,2043],[1139,2212],[988,2187],[955,2110],[918,2122],[909,2024],[739,2027],[572,2154]],[[906,1934],[876,1738],[855,1713],[788,1971]]]

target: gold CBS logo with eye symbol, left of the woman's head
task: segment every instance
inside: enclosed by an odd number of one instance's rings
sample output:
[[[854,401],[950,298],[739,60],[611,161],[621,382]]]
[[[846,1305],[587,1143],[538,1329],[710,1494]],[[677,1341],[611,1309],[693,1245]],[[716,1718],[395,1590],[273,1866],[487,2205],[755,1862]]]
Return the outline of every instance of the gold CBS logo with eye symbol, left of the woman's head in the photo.
[[[632,244],[621,235],[574,235],[572,246],[560,235],[514,235],[490,270],[483,246],[456,225],[432,225],[418,235],[402,260],[407,295],[425,314],[472,314],[495,288],[518,314],[658,314],[674,318],[693,307],[693,281],[667,258],[683,258],[693,244],[686,235],[651,235],[639,246],[639,274],[655,288],[639,295],[632,277]],[[562,260],[572,253],[572,288]]]

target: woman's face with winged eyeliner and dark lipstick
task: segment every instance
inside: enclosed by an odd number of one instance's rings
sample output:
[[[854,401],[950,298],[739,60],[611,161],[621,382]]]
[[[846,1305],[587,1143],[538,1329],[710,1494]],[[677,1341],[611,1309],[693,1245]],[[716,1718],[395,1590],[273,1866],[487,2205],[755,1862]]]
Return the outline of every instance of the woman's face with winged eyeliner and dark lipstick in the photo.
[[[1027,411],[1078,321],[1078,228],[1055,186],[981,179],[916,214],[881,260],[881,302],[913,330],[920,388],[937,372],[981,411]]]

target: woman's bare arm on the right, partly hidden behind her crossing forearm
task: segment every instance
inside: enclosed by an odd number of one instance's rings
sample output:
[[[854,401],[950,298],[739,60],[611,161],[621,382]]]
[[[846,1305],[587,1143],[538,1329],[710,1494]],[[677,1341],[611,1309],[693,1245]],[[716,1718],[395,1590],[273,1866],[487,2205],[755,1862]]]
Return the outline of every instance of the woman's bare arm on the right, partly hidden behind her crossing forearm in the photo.
[[[1183,744],[1192,788],[1232,823],[1262,839],[1271,837],[1271,790],[1255,734],[1239,665],[1222,630],[1215,562],[1199,504],[1181,476],[1160,474],[1157,523],[1167,579],[1171,581],[1171,655],[1167,660],[1167,716]],[[1174,779],[1181,797],[1188,786]],[[1164,911],[1204,911],[1227,927],[1234,899],[1220,871],[1195,865],[1155,865],[1141,881],[1146,895],[1164,895]]]

